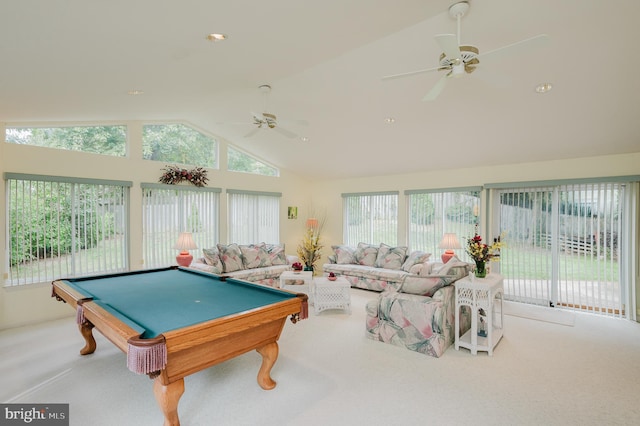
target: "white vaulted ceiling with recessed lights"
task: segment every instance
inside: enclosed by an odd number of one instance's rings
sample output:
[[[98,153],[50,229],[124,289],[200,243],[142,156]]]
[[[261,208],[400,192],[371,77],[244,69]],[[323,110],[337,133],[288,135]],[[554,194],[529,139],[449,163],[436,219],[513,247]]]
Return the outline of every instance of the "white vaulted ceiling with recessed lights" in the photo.
[[[457,32],[453,3],[4,2],[0,121],[185,120],[310,178],[640,151],[640,2],[471,0],[461,44],[480,55],[538,34],[549,43],[480,56],[430,102],[442,72],[383,81],[438,65],[434,36]],[[297,137],[246,137],[265,108]]]

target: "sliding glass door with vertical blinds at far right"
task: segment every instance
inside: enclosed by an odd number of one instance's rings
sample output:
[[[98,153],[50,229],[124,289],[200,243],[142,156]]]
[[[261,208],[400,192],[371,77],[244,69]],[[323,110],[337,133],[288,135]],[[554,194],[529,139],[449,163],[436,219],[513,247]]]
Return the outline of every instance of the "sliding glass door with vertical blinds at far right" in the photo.
[[[623,316],[620,285],[625,185],[576,183],[496,189],[505,298]],[[496,216],[494,216],[496,217]]]

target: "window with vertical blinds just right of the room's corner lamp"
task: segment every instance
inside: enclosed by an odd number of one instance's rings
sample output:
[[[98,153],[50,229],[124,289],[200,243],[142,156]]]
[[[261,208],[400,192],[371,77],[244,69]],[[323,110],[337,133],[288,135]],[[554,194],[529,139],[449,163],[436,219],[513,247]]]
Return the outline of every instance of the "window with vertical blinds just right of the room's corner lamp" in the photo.
[[[344,244],[398,244],[398,192],[342,194]]]

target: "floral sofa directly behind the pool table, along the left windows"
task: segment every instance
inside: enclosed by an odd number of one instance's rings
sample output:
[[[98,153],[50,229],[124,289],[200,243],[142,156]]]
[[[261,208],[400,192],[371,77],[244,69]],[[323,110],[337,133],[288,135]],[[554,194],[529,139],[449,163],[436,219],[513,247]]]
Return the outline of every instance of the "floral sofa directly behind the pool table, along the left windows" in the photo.
[[[190,268],[271,287],[278,287],[280,274],[299,261],[285,254],[284,244],[217,244],[202,249],[202,254]]]

